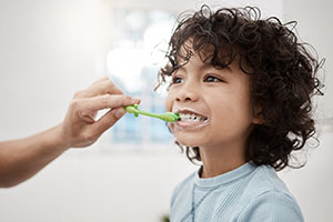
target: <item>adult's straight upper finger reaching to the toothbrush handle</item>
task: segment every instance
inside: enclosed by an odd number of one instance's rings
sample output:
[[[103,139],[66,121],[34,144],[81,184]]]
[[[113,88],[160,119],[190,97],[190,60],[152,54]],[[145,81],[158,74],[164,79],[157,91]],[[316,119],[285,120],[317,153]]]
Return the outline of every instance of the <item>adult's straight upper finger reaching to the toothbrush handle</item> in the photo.
[[[135,99],[124,94],[103,94],[93,98],[83,98],[75,101],[75,105],[81,112],[99,111],[103,109],[113,109],[129,104],[140,103],[140,99]]]

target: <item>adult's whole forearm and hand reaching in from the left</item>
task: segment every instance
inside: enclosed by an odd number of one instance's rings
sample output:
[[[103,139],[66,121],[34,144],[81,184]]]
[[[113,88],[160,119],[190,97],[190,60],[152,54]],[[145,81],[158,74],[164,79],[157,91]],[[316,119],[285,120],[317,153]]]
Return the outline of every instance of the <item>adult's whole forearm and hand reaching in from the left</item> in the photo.
[[[0,186],[28,180],[69,148],[92,144],[125,113],[123,105],[139,102],[124,95],[107,77],[77,92],[61,124],[24,139],[0,142]],[[94,120],[102,109],[110,110]]]

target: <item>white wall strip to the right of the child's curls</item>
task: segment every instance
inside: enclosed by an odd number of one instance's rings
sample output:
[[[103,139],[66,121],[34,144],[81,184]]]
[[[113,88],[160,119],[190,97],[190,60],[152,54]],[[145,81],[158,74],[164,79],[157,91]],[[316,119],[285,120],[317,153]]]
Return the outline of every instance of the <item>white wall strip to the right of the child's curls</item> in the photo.
[[[326,58],[325,95],[316,99],[317,119],[333,117],[332,6],[329,0],[283,1],[285,21],[296,20],[301,39],[311,43],[321,58]],[[320,131],[320,147],[310,151],[305,168],[281,173],[297,199],[306,221],[310,222],[333,221],[333,120],[322,121]]]

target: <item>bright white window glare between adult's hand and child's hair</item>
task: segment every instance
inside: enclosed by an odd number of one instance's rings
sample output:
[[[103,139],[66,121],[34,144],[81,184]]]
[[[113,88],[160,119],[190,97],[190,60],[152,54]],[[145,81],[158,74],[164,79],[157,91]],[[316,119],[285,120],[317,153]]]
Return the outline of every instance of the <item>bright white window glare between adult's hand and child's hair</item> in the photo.
[[[141,91],[145,83],[142,70],[165,64],[174,19],[170,13],[157,10],[149,13],[132,11],[127,13],[124,21],[119,21],[119,26],[124,27],[123,39],[118,40],[117,48],[108,53],[107,70],[128,91]]]

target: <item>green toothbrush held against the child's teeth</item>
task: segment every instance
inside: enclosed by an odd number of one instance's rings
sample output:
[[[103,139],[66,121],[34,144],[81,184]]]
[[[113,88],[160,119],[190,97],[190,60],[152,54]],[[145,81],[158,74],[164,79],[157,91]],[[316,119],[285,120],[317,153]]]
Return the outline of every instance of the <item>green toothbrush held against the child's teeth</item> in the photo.
[[[162,113],[162,114],[151,113],[151,112],[147,112],[143,110],[139,110],[138,104],[127,105],[127,107],[124,107],[124,109],[128,113],[134,113],[135,118],[138,118],[139,114],[142,114],[142,115],[148,115],[151,118],[158,118],[165,122],[175,122],[175,121],[180,120],[180,117],[178,113],[173,113],[173,112],[167,112],[167,113]]]

